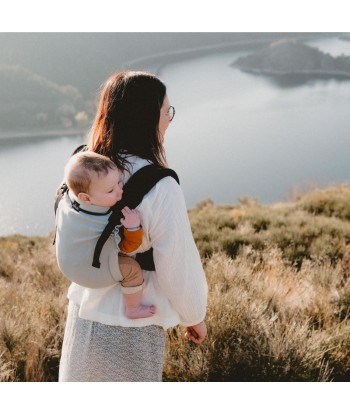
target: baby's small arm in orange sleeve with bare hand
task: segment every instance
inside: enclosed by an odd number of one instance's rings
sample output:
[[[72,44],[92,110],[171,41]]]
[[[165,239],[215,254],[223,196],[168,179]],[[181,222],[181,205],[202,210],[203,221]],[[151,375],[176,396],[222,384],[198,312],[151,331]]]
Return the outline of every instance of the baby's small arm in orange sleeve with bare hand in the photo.
[[[134,252],[142,243],[141,215],[127,206],[122,209],[122,214],[124,219],[120,222],[124,226],[124,238],[119,243],[119,248],[121,252],[128,254]]]

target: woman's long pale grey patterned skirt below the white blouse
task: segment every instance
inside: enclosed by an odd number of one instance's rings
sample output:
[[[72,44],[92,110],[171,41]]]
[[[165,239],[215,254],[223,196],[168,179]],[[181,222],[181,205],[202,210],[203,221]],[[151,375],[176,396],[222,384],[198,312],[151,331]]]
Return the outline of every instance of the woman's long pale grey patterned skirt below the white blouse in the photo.
[[[59,382],[161,382],[166,332],[108,326],[78,316],[70,302]]]

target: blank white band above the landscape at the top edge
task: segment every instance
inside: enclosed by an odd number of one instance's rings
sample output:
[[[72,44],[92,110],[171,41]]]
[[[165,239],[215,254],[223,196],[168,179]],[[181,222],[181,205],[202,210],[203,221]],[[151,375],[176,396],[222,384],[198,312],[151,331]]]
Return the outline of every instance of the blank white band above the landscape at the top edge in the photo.
[[[345,0],[12,0],[1,31],[348,31]]]

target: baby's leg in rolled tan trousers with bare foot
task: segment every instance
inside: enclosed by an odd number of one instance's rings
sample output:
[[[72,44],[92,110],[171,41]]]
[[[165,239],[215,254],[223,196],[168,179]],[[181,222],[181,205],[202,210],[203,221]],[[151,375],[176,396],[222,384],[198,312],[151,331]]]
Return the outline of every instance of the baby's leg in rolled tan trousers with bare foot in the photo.
[[[119,256],[119,268],[123,275],[121,291],[125,304],[125,315],[130,319],[152,317],[156,308],[141,304],[143,293],[143,275],[140,265],[128,256]]]

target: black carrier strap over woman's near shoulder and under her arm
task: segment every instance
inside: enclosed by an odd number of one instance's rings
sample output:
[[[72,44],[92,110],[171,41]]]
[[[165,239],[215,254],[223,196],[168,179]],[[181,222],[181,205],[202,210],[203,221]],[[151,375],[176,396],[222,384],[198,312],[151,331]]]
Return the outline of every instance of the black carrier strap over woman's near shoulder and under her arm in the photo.
[[[122,199],[112,207],[112,213],[108,219],[108,224],[96,243],[92,262],[93,267],[100,268],[102,248],[114,228],[117,225],[120,225],[120,219],[123,217],[121,210],[125,206],[128,206],[130,209],[135,209],[142,202],[143,197],[159,182],[159,180],[167,176],[173,177],[180,183],[174,170],[158,167],[153,164],[142,167],[130,177],[123,188]],[[138,254],[136,259],[140,263],[141,268],[154,270],[154,264],[152,265],[152,250],[149,250],[144,254]]]

